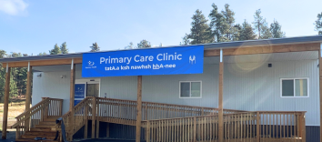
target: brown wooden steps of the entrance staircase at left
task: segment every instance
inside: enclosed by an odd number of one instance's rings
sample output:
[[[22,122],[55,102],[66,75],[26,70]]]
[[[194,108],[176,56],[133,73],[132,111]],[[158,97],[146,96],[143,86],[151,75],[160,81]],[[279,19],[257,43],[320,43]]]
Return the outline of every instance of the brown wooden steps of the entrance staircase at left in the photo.
[[[58,135],[57,140],[55,139],[56,136],[56,130],[55,130],[55,120],[59,116],[48,116],[44,119],[44,121],[39,122],[38,125],[35,125],[35,127],[30,128],[30,131],[26,131],[24,135],[22,135],[20,138],[15,139],[15,141],[21,141],[21,142],[33,142],[33,141],[51,141],[51,142],[59,142],[60,135]],[[35,137],[45,137],[44,140],[35,140]]]

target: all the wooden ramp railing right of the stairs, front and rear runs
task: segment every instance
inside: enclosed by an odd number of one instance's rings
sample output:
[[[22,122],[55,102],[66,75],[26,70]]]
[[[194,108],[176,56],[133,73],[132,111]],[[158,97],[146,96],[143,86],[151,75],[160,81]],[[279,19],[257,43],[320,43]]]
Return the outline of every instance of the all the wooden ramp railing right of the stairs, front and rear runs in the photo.
[[[147,142],[217,141],[218,131],[225,140],[236,141],[305,141],[305,112],[224,110],[224,127],[218,127],[218,109],[142,102],[142,127]],[[98,121],[136,126],[136,101],[86,97],[73,111],[63,116],[67,140],[92,120],[98,137]],[[96,123],[93,123],[96,121]],[[87,133],[85,133],[87,138]]]

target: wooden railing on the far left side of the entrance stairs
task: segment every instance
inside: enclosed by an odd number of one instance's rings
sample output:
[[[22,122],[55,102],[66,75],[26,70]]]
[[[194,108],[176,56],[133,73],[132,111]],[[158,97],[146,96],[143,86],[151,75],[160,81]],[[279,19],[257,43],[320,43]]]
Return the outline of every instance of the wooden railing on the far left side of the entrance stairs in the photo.
[[[62,116],[62,108],[63,99],[43,97],[41,102],[15,117],[16,123],[12,126],[16,128],[15,138],[20,138],[48,116]]]

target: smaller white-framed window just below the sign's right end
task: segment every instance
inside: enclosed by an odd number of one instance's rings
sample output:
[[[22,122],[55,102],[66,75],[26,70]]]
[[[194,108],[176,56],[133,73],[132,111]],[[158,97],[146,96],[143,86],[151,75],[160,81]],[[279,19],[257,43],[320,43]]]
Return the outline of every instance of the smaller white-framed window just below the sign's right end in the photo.
[[[181,81],[180,98],[200,98],[201,81]]]

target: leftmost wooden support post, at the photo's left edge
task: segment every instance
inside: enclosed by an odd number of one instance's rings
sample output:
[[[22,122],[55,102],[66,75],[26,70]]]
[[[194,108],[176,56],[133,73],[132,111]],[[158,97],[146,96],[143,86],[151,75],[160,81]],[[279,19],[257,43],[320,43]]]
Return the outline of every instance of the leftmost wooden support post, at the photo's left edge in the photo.
[[[6,127],[8,125],[8,104],[9,104],[9,91],[10,91],[10,71],[11,68],[6,64],[5,68],[5,103],[4,103],[4,118],[2,123],[2,139],[6,139]]]

